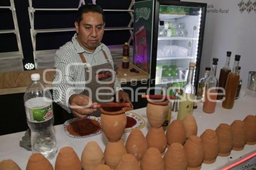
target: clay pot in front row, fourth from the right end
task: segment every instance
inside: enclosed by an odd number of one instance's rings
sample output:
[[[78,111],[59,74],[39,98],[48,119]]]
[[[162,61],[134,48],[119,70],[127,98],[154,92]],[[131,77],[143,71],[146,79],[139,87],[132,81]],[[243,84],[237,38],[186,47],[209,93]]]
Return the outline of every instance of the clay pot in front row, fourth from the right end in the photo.
[[[204,147],[204,163],[214,163],[219,153],[219,142],[216,132],[212,129],[206,129],[200,138]]]

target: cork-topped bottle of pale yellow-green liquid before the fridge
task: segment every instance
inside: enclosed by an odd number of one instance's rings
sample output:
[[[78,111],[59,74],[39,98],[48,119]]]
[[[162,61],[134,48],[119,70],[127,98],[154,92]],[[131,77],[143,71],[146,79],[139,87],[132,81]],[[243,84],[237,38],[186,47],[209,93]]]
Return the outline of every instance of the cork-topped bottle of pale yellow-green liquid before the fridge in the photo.
[[[193,86],[195,63],[189,63],[189,74],[187,83],[182,88],[182,99],[180,101],[177,119],[183,120],[187,114],[193,114],[195,99],[195,87]]]

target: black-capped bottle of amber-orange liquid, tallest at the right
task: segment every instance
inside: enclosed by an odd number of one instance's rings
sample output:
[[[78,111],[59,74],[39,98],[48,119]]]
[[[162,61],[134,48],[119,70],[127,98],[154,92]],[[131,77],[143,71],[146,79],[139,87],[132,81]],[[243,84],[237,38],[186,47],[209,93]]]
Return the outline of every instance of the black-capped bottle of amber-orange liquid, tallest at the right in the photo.
[[[236,90],[239,83],[239,74],[238,74],[238,65],[240,61],[240,55],[235,56],[235,63],[232,69],[232,72],[228,74],[227,83],[226,83],[226,96],[225,100],[222,102],[222,107],[226,109],[232,109],[235,102]]]

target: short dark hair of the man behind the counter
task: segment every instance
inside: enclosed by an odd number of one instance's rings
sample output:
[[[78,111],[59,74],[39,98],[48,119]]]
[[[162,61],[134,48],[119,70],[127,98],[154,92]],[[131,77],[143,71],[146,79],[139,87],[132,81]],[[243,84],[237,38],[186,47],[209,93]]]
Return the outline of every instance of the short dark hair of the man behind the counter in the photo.
[[[103,19],[103,22],[105,23],[105,15],[104,15],[103,9],[100,6],[95,4],[85,4],[80,6],[80,8],[78,8],[78,11],[77,11],[76,22],[79,24],[80,21],[83,20],[82,18],[83,14],[88,12],[96,12],[96,13],[102,14],[102,19]]]

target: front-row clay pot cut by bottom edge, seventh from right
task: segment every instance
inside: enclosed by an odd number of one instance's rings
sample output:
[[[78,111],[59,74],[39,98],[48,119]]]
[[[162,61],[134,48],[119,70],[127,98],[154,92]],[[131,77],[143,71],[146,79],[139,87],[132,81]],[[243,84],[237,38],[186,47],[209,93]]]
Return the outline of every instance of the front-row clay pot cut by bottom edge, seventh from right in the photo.
[[[141,170],[164,170],[164,160],[155,147],[150,147],[140,162]]]

